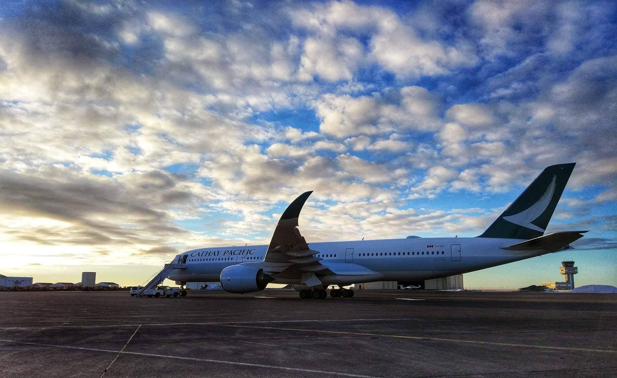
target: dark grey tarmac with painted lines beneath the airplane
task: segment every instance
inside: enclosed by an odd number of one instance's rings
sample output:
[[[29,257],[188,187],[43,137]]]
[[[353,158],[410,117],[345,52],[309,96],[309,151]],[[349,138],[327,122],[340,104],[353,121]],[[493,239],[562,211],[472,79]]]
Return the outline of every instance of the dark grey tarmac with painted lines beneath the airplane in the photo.
[[[617,377],[617,295],[0,292],[0,377]]]

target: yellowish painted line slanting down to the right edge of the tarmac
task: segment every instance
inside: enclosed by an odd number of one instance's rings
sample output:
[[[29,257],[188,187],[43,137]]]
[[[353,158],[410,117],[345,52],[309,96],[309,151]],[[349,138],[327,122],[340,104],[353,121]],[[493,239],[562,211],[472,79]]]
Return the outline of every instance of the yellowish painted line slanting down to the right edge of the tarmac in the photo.
[[[381,337],[392,337],[392,338],[407,338],[407,339],[410,339],[410,340],[423,340],[423,341],[442,341],[442,342],[468,343],[468,344],[501,345],[501,346],[505,346],[505,347],[524,347],[524,348],[556,349],[556,350],[569,350],[569,351],[590,351],[590,352],[600,352],[600,353],[617,353],[617,350],[591,349],[591,348],[573,348],[573,347],[553,347],[551,345],[533,345],[533,344],[517,344],[517,343],[483,342],[483,341],[478,341],[478,340],[462,340],[462,339],[458,339],[458,338],[441,338],[441,337],[421,337],[421,336],[404,336],[404,335],[369,334],[369,333],[366,333],[366,332],[346,332],[346,331],[334,331],[334,330],[323,330],[323,329],[241,326],[239,324],[219,324],[219,326],[221,326],[221,327],[234,327],[234,328],[274,329],[274,330],[288,330],[288,331],[300,331],[300,332],[317,332],[317,333],[322,333],[322,334],[334,334],[334,335],[381,336]]]

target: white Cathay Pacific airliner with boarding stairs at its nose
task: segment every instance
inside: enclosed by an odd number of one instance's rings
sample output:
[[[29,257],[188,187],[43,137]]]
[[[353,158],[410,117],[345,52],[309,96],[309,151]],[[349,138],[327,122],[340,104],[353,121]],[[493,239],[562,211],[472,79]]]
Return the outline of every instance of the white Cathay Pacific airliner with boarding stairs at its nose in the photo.
[[[545,168],[491,226],[473,238],[421,238],[307,243],[297,229],[312,191],[289,204],[269,245],[199,248],[178,254],[146,285],[166,277],[186,282],[220,281],[230,293],[263,290],[270,282],[292,284],[300,298],[353,296],[344,285],[436,279],[571,249],[587,231],[544,235],[575,163]],[[186,295],[186,291],[183,291]]]

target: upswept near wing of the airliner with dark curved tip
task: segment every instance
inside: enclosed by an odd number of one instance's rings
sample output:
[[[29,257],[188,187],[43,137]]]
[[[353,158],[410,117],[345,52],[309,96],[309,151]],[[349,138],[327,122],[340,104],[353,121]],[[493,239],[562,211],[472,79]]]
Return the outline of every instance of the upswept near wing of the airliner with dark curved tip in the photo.
[[[283,212],[262,263],[264,273],[277,278],[301,279],[300,282],[308,286],[321,284],[315,272],[334,274],[320,263],[322,259],[315,256],[319,251],[311,250],[297,229],[300,210],[311,193],[313,191],[302,193]]]

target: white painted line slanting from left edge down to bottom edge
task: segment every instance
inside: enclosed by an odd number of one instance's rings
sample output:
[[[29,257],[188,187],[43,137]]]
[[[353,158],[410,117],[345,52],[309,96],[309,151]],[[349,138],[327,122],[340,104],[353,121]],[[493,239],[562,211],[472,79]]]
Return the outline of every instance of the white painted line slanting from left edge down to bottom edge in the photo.
[[[157,358],[184,359],[188,361],[199,361],[199,362],[208,362],[208,363],[216,363],[216,364],[251,366],[252,368],[267,368],[267,369],[279,369],[279,370],[286,370],[286,371],[312,372],[312,373],[320,373],[320,374],[329,374],[331,376],[355,377],[355,378],[381,378],[381,377],[376,377],[376,376],[363,376],[362,374],[350,374],[350,373],[336,372],[336,371],[288,368],[287,366],[251,364],[251,363],[241,363],[241,362],[236,362],[236,361],[221,361],[218,359],[155,355],[153,353],[127,352],[127,351],[122,351],[122,350],[117,351],[117,350],[107,350],[107,349],[97,349],[97,348],[70,347],[68,345],[53,345],[53,344],[44,344],[44,343],[20,342],[17,340],[0,339],[0,342],[17,343],[17,344],[25,344],[25,345],[37,345],[40,347],[67,348],[67,349],[78,349],[78,350],[88,350],[88,351],[99,351],[99,352],[106,352],[106,353],[118,353],[118,355],[122,354],[122,355],[147,356],[147,357],[157,357]]]

